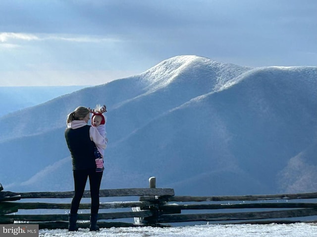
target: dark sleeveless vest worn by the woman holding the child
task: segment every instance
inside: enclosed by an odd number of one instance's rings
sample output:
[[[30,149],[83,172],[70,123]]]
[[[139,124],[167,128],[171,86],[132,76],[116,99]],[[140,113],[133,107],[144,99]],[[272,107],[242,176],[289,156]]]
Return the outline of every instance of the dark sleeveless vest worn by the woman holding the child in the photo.
[[[90,127],[85,125],[76,129],[66,128],[65,130],[65,139],[72,157],[73,170],[96,168],[95,143],[90,140]]]

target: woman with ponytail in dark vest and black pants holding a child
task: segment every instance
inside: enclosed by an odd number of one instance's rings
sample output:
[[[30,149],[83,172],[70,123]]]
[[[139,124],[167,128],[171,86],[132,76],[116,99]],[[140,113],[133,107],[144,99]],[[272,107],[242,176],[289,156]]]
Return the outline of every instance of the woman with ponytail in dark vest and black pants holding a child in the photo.
[[[100,135],[96,127],[87,122],[90,119],[90,110],[86,107],[77,107],[67,117],[65,139],[71,154],[73,164],[75,194],[71,202],[68,217],[68,231],[77,231],[77,212],[83,197],[87,178],[89,177],[91,193],[90,231],[99,231],[97,226],[99,211],[99,189],[103,172],[96,172],[94,155],[95,144],[106,148],[105,138]]]

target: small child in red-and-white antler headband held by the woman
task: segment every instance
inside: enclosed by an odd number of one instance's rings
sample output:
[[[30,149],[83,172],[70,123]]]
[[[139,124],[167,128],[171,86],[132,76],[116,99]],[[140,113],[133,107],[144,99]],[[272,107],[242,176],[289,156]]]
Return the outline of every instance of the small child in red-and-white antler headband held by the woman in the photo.
[[[108,142],[108,139],[106,138],[106,119],[103,116],[103,113],[106,112],[106,105],[101,107],[100,105],[96,106],[96,109],[90,110],[90,113],[93,114],[91,117],[91,125],[96,127],[99,131],[100,135],[105,137],[106,143]],[[104,171],[104,150],[98,146],[95,146],[95,161],[96,161],[96,172],[102,172]]]

